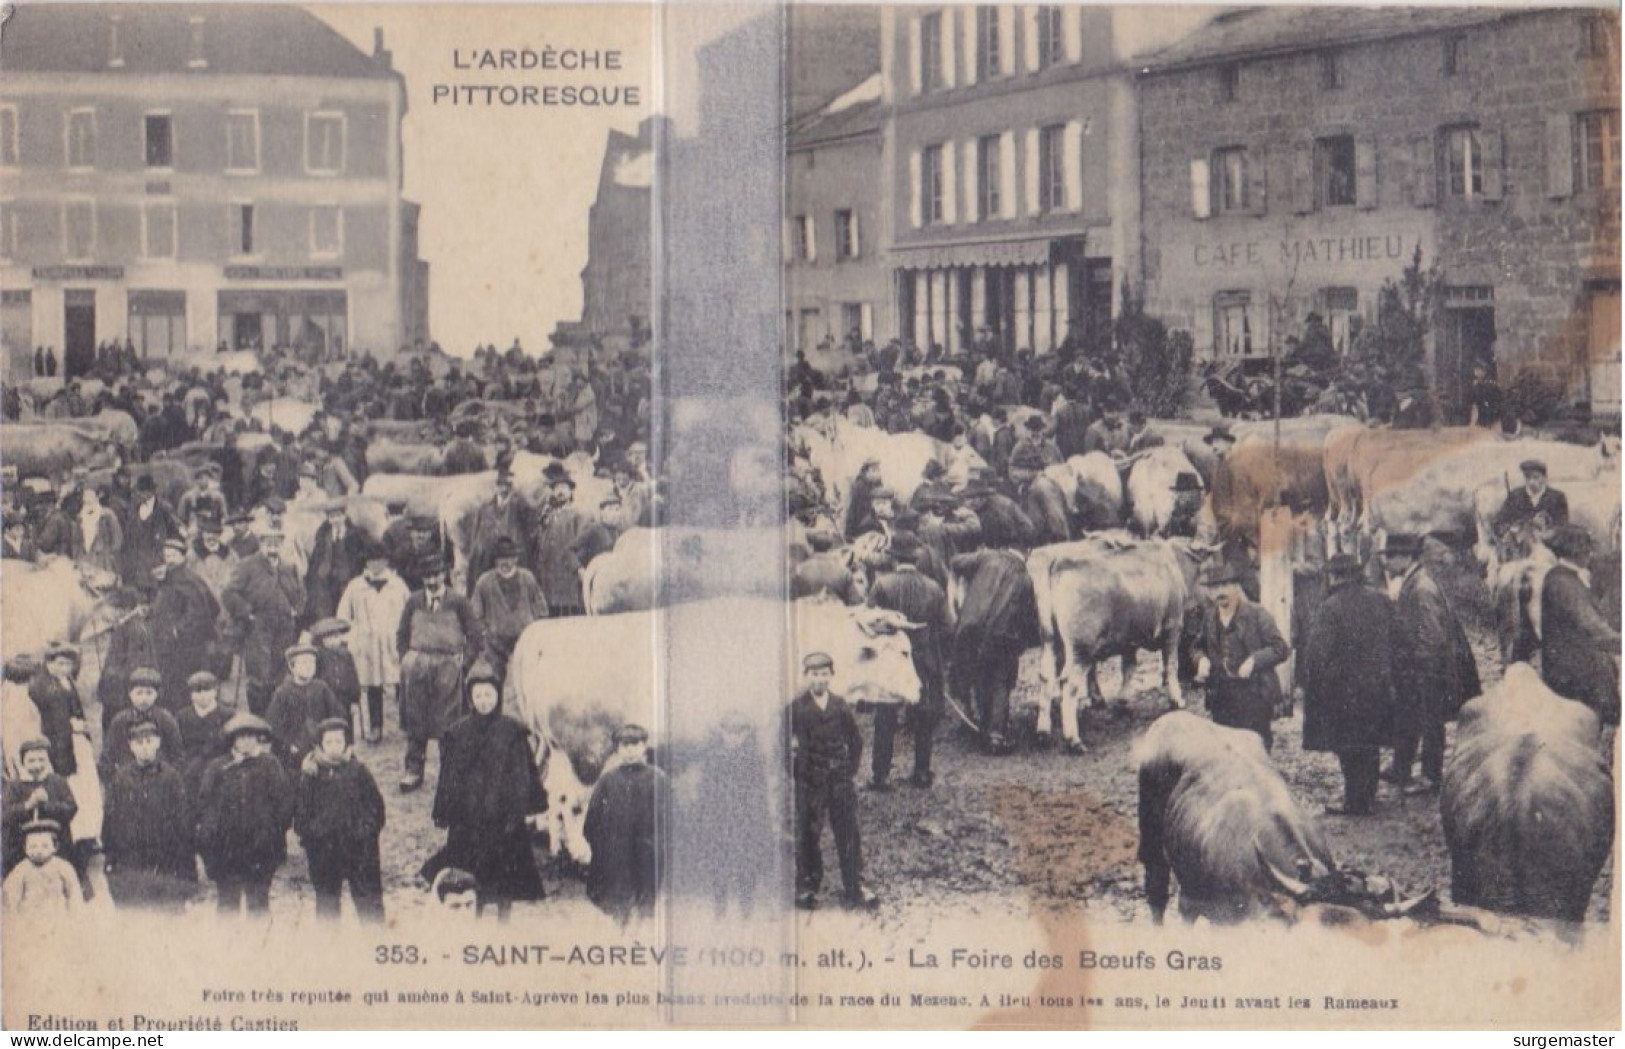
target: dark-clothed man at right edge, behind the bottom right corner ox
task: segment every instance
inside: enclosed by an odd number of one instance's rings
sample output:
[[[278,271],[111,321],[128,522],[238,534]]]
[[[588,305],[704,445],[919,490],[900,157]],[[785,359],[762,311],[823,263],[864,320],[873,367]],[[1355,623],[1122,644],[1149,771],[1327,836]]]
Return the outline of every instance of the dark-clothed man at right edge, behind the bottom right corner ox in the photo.
[[[1540,585],[1540,679],[1594,710],[1604,724],[1618,724],[1620,633],[1597,609],[1581,567],[1591,557],[1591,534],[1565,524],[1547,547],[1558,562]]]

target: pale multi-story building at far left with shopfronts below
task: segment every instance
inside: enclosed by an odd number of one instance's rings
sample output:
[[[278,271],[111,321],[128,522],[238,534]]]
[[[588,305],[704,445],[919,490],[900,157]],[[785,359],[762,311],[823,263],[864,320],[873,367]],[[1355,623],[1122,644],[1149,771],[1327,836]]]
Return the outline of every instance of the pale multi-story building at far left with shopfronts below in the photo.
[[[367,55],[294,6],[20,6],[0,99],[8,372],[41,344],[387,354],[422,335],[405,110],[382,36]]]

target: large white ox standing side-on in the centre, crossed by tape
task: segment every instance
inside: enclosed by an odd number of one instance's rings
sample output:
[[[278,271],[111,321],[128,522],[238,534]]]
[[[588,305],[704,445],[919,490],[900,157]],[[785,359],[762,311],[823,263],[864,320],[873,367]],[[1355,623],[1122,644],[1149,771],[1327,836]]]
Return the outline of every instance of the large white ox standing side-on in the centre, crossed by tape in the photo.
[[[879,609],[748,598],[536,620],[514,650],[505,692],[509,711],[538,744],[554,853],[592,859],[582,835],[587,801],[622,724],[648,727],[663,753],[704,740],[728,714],[743,716],[777,768],[785,672],[800,676],[801,654],[812,651],[834,658],[834,689],[848,703],[918,703],[907,625]],[[681,695],[668,695],[673,682]]]

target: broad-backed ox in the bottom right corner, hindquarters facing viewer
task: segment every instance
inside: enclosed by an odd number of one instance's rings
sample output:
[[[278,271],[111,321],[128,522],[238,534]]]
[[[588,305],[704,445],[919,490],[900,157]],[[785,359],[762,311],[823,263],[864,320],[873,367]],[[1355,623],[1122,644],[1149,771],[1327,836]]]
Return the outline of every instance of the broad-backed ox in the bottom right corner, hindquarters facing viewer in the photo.
[[[1440,807],[1451,898],[1584,921],[1614,853],[1614,778],[1597,716],[1514,663],[1461,708]]]

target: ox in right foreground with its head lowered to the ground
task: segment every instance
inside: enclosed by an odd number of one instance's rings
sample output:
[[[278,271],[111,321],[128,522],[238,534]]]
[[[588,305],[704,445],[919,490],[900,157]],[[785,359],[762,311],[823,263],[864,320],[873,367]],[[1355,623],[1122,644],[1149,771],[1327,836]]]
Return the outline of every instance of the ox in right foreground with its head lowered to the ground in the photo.
[[[1170,874],[1180,916],[1216,924],[1290,917],[1303,904],[1402,917],[1432,896],[1401,901],[1388,878],[1339,867],[1253,732],[1173,711],[1136,744],[1136,765],[1139,861],[1157,924]]]

